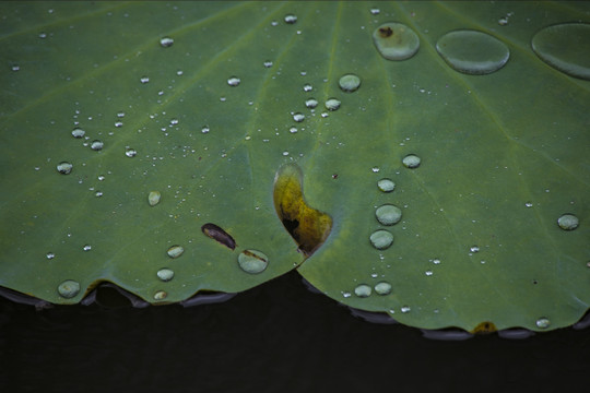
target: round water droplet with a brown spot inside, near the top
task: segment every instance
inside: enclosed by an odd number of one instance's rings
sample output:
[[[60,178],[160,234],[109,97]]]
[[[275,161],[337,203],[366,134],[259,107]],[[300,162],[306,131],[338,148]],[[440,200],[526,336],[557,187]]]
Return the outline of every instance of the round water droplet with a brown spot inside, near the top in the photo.
[[[405,60],[420,48],[420,39],[413,29],[402,23],[385,23],[373,33],[373,41],[379,53],[388,60]]]

